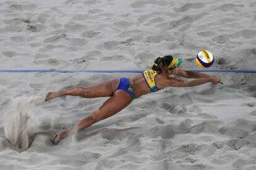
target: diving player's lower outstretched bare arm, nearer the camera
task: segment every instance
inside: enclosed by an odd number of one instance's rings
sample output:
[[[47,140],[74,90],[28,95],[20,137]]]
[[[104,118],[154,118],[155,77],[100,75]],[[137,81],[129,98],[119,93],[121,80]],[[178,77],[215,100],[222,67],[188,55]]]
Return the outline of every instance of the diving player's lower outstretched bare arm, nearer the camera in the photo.
[[[200,78],[200,79],[193,79],[191,81],[184,81],[184,80],[179,80],[179,79],[175,79],[175,78],[169,78],[168,81],[168,86],[171,87],[192,87],[192,86],[198,86],[201,84],[205,84],[205,83],[214,83],[214,84],[223,84],[220,79],[211,76],[208,78]]]

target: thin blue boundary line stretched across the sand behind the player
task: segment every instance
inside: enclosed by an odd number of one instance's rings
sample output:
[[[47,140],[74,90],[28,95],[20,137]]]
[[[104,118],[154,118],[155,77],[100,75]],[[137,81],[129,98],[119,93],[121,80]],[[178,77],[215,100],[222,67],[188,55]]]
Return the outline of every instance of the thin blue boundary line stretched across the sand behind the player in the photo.
[[[0,73],[142,73],[144,70],[0,70]],[[187,70],[202,73],[256,73],[256,70]]]

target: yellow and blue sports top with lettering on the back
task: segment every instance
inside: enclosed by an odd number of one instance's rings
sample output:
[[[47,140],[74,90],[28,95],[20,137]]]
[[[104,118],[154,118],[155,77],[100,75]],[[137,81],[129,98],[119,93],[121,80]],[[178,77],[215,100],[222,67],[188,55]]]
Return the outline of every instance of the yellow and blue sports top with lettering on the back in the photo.
[[[158,91],[158,87],[156,86],[155,82],[155,76],[158,75],[158,73],[154,70],[145,70],[143,71],[143,77],[150,88],[151,92]]]

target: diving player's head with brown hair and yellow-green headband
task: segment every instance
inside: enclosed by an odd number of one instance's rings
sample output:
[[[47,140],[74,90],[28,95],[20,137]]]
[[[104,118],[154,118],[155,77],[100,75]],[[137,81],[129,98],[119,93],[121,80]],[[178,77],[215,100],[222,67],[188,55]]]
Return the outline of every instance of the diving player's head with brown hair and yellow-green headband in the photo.
[[[155,64],[152,70],[157,71],[160,74],[168,75],[168,73],[176,72],[176,67],[182,65],[182,59],[176,59],[172,55],[166,55],[164,57],[158,57],[155,60]]]

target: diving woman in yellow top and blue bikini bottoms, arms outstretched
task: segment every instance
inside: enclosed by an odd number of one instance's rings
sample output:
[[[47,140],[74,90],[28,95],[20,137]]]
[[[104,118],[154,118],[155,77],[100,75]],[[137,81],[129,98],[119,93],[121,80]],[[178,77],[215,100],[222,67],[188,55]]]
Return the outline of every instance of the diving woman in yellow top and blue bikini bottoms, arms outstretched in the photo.
[[[100,83],[92,87],[74,87],[64,91],[49,92],[45,101],[49,101],[63,95],[80,96],[84,98],[109,97],[100,108],[93,111],[87,118],[82,119],[74,127],[58,132],[52,142],[58,144],[59,141],[69,134],[85,129],[92,124],[113,116],[126,108],[132,100],[150,92],[156,92],[165,87],[191,87],[205,83],[221,83],[217,76],[184,71],[179,69],[182,59],[176,59],[171,55],[158,57],[151,70],[146,70],[134,78],[118,78]],[[194,78],[191,81],[171,78],[170,75],[182,76],[184,78]],[[223,84],[223,83],[221,83]]]

